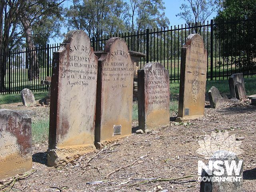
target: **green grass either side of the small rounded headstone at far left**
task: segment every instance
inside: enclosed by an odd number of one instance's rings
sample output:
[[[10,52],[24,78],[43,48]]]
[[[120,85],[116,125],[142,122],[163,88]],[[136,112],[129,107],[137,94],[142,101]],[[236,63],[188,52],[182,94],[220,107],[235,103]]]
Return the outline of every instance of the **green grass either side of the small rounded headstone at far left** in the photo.
[[[48,92],[34,92],[34,96],[36,100],[40,100],[47,96]],[[0,95],[0,104],[10,104],[10,103],[18,103],[22,102],[20,94],[6,94]]]

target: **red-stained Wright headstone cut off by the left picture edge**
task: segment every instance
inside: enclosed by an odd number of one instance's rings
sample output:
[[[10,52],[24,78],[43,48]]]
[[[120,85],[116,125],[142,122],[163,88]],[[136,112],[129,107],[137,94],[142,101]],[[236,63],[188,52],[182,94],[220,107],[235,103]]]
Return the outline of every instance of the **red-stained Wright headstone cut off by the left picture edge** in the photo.
[[[0,109],[0,122],[0,179],[4,179],[32,168],[31,118]]]

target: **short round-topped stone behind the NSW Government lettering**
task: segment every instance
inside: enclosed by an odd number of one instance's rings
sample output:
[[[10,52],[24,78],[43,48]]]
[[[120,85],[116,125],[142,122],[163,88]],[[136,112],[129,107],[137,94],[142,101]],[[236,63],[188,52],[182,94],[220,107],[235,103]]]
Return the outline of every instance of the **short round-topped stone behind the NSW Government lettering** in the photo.
[[[236,162],[236,166],[239,164],[239,159],[233,152],[228,151],[217,151],[209,160],[212,161],[212,163],[216,161],[228,161],[228,164],[230,165],[232,160]],[[218,164],[218,166],[222,167],[224,170],[224,174],[221,176],[214,174],[214,171],[220,172],[220,170],[215,170],[213,167],[213,174],[208,175],[204,170],[202,172],[202,177],[222,177],[222,178],[236,178],[240,177],[240,179],[237,178],[237,181],[201,181],[200,182],[200,192],[242,192],[242,183],[243,183],[243,162],[240,169],[240,172],[238,175],[235,174],[234,170],[232,171],[231,175],[228,175],[228,172],[226,170],[225,164]],[[240,181],[239,181],[240,180]]]

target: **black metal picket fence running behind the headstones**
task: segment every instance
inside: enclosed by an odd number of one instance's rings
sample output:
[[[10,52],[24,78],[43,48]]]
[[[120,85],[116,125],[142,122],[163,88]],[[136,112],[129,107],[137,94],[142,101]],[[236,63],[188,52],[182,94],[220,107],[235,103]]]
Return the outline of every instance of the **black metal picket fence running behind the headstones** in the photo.
[[[91,38],[95,51],[104,50],[110,37],[122,37],[129,50],[146,54],[140,68],[147,62],[160,62],[170,71],[170,82],[180,78],[181,47],[189,34],[198,33],[204,40],[208,53],[207,80],[228,79],[231,74],[242,72],[245,77],[256,74],[256,25],[254,20],[210,22],[198,26],[178,25],[160,29],[114,34]],[[6,90],[2,94],[19,93],[23,88],[33,91],[47,90],[40,80],[52,74],[52,54],[60,44],[47,45],[35,50],[10,51],[6,56]],[[28,55],[36,52],[39,78],[28,76]],[[33,59],[33,58],[32,58]]]

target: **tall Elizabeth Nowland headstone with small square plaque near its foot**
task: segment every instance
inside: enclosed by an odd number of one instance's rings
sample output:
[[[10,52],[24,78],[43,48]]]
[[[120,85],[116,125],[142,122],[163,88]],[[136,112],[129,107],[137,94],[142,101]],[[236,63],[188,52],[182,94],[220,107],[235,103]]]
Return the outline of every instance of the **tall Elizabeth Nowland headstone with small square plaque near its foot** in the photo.
[[[98,62],[95,142],[132,133],[134,63],[122,38],[110,38]]]

